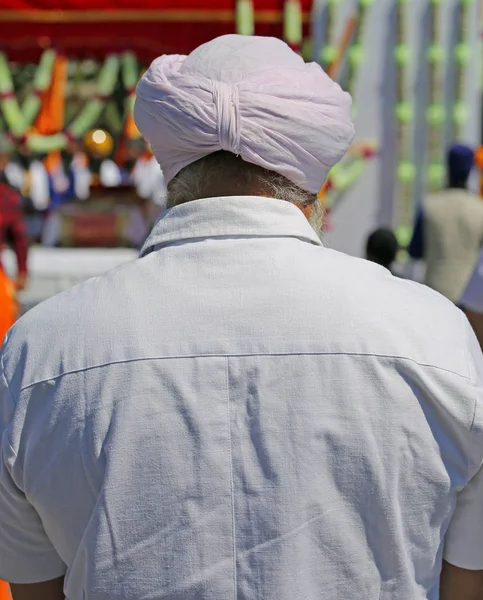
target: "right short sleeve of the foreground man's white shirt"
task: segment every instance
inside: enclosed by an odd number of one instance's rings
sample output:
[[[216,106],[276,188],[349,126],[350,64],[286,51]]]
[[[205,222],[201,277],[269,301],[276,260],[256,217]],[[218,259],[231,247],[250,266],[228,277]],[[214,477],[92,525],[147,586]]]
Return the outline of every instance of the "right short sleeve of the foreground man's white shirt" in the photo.
[[[483,355],[467,325],[468,385],[475,398],[468,440],[469,482],[458,494],[445,537],[444,558],[462,569],[483,569]]]

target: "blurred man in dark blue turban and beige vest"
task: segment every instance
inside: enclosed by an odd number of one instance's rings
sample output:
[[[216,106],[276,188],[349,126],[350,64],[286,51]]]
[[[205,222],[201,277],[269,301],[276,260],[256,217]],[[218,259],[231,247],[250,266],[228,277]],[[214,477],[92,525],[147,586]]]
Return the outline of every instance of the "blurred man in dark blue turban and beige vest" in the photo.
[[[455,303],[483,244],[483,202],[467,189],[473,165],[471,148],[450,148],[448,189],[426,199],[409,246],[413,259],[426,262],[425,283]]]

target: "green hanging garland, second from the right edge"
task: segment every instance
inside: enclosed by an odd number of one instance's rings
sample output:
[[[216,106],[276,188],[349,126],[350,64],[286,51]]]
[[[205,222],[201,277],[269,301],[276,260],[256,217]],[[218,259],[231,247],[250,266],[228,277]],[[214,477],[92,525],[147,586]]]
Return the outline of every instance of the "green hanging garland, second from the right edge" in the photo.
[[[445,50],[441,43],[441,5],[442,0],[430,0],[429,106],[426,111],[426,121],[428,124],[427,177],[431,191],[443,187],[446,175],[444,164],[446,110],[443,98]]]

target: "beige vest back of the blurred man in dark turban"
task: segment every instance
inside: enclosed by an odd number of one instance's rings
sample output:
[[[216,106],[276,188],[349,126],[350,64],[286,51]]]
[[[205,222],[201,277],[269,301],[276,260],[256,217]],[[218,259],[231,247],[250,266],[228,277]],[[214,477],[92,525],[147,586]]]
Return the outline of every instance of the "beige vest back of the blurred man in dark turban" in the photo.
[[[458,302],[483,243],[483,202],[464,189],[430,196],[424,205],[426,283]]]

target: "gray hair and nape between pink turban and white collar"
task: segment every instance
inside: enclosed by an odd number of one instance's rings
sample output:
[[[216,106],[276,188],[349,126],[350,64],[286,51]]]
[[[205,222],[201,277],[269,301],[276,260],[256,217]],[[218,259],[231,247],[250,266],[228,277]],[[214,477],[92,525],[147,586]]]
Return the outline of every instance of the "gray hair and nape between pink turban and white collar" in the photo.
[[[168,185],[167,201],[168,208],[172,208],[202,198],[237,195],[266,196],[302,206],[309,206],[315,200],[314,194],[283,175],[220,151],[180,171]]]

